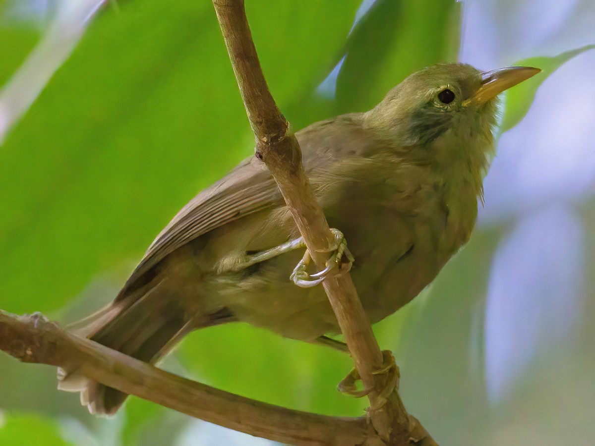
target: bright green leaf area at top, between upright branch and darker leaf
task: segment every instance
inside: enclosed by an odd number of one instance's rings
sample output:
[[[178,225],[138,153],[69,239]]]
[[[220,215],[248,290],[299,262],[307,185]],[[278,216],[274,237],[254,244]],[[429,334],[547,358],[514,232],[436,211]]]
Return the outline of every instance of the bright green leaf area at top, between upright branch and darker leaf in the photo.
[[[360,3],[246,2],[262,70],[281,109],[284,103],[299,101],[314,89],[339,61]]]

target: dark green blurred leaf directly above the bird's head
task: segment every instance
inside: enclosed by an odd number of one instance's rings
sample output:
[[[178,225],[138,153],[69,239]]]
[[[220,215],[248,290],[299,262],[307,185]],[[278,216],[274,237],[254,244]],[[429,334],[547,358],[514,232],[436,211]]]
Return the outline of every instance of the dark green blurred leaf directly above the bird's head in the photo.
[[[380,0],[353,30],[337,78],[337,112],[365,111],[409,74],[456,61],[461,4]]]

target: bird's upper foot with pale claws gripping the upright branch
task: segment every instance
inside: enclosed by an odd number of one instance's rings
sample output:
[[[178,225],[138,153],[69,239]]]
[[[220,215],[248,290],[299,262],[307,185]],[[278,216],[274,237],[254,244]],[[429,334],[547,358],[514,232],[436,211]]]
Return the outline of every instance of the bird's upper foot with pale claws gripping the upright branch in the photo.
[[[346,274],[351,269],[351,265],[353,264],[353,256],[347,249],[347,241],[345,240],[345,236],[343,233],[337,229],[331,228],[331,233],[333,233],[335,238],[335,246],[331,249],[332,254],[328,257],[326,267],[315,274],[309,274],[308,265],[312,261],[312,257],[308,250],[303,255],[302,260],[297,263],[295,269],[293,269],[292,275],[290,279],[292,279],[293,283],[295,283],[298,287],[302,288],[309,288],[315,287],[316,285],[322,283],[328,277],[340,277],[343,274]],[[346,262],[343,261],[343,257],[347,260]],[[338,272],[334,272],[334,269],[339,267]],[[331,274],[333,274],[331,276]]]

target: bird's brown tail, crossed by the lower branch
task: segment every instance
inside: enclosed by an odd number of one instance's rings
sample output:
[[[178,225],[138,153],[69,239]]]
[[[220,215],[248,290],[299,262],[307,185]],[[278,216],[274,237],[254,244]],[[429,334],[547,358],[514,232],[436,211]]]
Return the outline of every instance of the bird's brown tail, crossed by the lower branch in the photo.
[[[175,296],[165,296],[161,282],[149,290],[134,291],[116,299],[94,315],[69,326],[81,337],[121,351],[151,364],[171,350],[194,325]],[[92,381],[76,370],[58,370],[58,388],[80,392],[81,403],[89,412],[114,414],[127,394]]]

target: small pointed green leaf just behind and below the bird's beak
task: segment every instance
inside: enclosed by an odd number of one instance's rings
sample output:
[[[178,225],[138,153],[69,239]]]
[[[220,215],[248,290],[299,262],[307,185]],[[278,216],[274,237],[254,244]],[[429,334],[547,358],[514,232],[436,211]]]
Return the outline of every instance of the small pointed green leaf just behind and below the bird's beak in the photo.
[[[558,70],[562,64],[589,49],[595,49],[595,45],[585,45],[582,48],[566,51],[554,57],[531,57],[516,62],[515,65],[519,66],[541,68],[541,73],[512,87],[506,92],[504,117],[502,119],[502,125],[500,126],[502,133],[506,130],[510,130],[525,117],[533,103],[537,89],[543,81],[545,81],[554,71]]]

